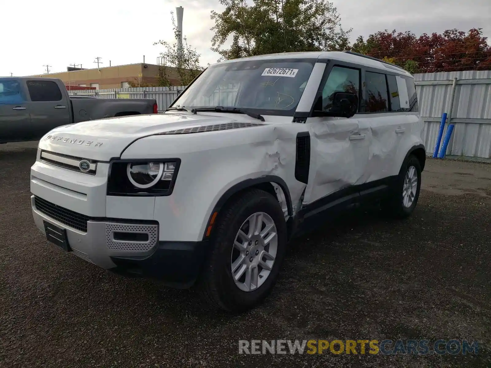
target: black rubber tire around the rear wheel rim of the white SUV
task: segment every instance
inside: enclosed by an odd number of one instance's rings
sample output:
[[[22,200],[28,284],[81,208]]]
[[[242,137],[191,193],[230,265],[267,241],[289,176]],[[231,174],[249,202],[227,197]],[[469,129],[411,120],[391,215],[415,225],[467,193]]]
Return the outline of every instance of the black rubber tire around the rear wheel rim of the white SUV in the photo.
[[[403,203],[403,189],[406,173],[410,167],[414,167],[416,170],[418,183],[416,185],[416,193],[412,204],[406,207]],[[389,196],[382,201],[382,212],[391,218],[405,218],[411,215],[411,213],[416,208],[419,198],[419,191],[421,188],[421,164],[419,160],[414,155],[410,155],[401,167],[396,183],[389,191]]]

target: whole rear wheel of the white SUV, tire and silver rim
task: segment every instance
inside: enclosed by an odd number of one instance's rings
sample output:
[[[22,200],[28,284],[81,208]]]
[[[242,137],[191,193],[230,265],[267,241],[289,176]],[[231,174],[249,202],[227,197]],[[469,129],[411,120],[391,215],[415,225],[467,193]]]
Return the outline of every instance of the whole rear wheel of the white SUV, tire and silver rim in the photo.
[[[416,208],[421,188],[421,164],[410,155],[403,164],[389,197],[382,202],[383,212],[393,218],[408,217]]]

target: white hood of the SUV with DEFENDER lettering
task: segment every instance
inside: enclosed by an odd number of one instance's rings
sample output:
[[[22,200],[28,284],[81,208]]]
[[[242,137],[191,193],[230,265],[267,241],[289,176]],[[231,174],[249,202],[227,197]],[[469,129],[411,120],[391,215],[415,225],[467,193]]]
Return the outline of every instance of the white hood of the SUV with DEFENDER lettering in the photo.
[[[149,114],[85,121],[57,127],[39,141],[39,149],[78,158],[109,161],[138,138],[234,122],[261,124],[247,115]]]

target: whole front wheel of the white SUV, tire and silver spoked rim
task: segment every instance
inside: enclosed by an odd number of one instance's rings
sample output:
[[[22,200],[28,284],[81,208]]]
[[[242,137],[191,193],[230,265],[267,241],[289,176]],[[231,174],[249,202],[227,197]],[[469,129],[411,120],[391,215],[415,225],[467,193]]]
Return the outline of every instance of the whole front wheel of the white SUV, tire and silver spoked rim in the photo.
[[[201,289],[232,313],[260,304],[271,292],[286,253],[286,224],[278,201],[252,189],[220,211]]]

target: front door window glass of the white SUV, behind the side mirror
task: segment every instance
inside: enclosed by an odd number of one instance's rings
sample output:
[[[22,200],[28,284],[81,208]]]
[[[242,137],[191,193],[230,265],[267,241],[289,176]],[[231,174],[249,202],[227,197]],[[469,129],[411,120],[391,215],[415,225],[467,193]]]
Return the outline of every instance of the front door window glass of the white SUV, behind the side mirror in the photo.
[[[322,90],[322,109],[332,107],[334,92],[350,92],[360,97],[360,70],[335,66],[331,69]]]

